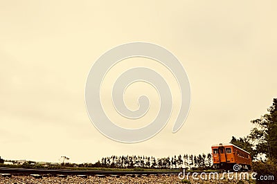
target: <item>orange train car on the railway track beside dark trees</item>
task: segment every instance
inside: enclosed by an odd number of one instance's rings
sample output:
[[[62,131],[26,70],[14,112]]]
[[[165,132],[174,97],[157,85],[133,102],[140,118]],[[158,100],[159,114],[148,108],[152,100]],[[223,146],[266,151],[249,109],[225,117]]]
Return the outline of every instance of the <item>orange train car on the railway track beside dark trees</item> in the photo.
[[[241,169],[251,169],[251,155],[249,152],[231,143],[212,145],[213,165],[216,168],[232,169],[233,165],[240,165]]]

